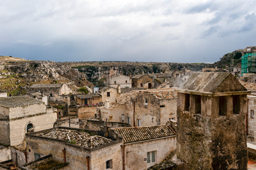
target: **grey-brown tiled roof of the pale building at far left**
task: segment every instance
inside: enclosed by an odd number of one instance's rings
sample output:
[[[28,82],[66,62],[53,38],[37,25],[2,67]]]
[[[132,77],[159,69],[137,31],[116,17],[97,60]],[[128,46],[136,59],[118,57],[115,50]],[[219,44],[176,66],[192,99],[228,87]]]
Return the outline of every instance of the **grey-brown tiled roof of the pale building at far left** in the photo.
[[[0,106],[4,106],[7,108],[28,106],[38,103],[43,103],[43,101],[38,101],[35,98],[31,98],[29,96],[13,96],[0,98]]]

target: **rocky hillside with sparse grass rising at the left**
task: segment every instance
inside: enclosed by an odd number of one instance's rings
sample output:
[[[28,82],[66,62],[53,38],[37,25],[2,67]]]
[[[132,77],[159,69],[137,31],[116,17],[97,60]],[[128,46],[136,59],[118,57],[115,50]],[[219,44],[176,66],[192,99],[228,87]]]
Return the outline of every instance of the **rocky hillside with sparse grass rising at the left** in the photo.
[[[1,91],[13,96],[26,94],[32,84],[66,83],[72,89],[79,86],[93,86],[87,75],[57,62],[30,60],[1,60]]]

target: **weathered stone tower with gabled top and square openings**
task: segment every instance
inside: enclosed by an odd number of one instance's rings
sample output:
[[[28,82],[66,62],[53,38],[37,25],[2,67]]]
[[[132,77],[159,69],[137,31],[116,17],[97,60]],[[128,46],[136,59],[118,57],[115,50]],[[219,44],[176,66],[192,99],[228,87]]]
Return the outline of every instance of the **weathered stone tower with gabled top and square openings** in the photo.
[[[245,87],[229,73],[195,72],[177,92],[177,157],[187,169],[247,169]]]

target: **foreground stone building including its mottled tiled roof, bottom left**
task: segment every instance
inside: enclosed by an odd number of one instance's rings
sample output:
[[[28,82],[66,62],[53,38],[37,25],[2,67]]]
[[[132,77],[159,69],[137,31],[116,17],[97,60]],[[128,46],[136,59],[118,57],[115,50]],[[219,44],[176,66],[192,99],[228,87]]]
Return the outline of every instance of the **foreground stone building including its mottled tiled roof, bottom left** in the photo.
[[[64,169],[122,169],[122,140],[89,133],[74,128],[30,133],[26,135],[28,162],[51,154],[52,159],[68,163]]]

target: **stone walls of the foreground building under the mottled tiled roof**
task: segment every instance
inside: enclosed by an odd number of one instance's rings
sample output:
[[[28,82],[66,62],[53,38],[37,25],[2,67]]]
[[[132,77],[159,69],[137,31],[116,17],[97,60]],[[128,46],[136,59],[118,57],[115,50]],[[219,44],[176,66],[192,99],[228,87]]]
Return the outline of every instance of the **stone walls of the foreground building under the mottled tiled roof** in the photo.
[[[66,128],[66,130],[74,129]],[[70,137],[72,139],[73,135]],[[87,169],[88,166],[91,170],[106,169],[108,160],[112,160],[112,169],[121,169],[121,140],[87,148],[78,146],[76,143],[71,144],[65,140],[42,137],[35,133],[27,135],[26,141],[28,162],[35,160],[35,154],[39,154],[40,157],[52,154],[52,158],[59,162],[65,162],[66,159],[68,166],[65,169]],[[89,165],[87,164],[88,161]]]

